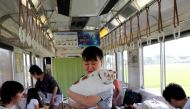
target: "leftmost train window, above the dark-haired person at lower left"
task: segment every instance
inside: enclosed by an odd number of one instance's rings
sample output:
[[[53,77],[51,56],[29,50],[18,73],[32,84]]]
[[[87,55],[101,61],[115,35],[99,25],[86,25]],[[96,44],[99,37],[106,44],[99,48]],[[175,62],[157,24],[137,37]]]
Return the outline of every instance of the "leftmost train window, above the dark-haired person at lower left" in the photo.
[[[0,48],[0,86],[7,80],[13,80],[12,52]]]

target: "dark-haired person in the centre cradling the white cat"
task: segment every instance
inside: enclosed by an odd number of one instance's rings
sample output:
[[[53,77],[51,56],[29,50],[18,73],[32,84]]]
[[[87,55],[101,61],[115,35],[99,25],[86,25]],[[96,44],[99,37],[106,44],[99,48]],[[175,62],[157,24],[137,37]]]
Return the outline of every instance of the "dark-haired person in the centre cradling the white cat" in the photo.
[[[98,47],[90,46],[82,52],[82,58],[84,69],[87,73],[92,73],[101,68],[103,52]],[[68,90],[67,94],[71,99],[77,102],[73,104],[73,107],[75,108],[98,106],[101,109],[110,109],[112,107],[112,89],[94,96],[80,95],[71,90]]]

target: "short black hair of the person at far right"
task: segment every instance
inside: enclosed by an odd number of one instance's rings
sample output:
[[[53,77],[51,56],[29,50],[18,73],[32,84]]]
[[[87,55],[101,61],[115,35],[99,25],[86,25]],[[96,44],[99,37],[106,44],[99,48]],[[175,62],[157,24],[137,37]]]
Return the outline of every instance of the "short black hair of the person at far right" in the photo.
[[[171,99],[182,100],[186,98],[186,94],[180,85],[170,83],[163,91],[163,97],[166,99],[166,101],[171,102]]]

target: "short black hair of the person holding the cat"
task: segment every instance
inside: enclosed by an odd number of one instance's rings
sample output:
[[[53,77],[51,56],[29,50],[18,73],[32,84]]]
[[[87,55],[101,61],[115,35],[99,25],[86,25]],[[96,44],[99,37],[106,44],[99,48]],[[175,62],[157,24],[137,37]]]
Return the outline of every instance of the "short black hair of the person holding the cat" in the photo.
[[[82,58],[84,61],[91,61],[91,60],[97,61],[97,58],[102,60],[103,52],[100,48],[96,46],[89,46],[85,48],[84,51],[82,52]]]

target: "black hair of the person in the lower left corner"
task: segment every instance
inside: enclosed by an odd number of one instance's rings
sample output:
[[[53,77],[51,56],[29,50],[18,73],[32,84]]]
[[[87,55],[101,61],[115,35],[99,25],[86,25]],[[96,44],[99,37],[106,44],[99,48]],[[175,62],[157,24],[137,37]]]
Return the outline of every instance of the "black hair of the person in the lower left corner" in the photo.
[[[22,93],[24,87],[17,81],[6,81],[3,83],[0,91],[1,102],[3,104],[9,104],[13,97],[16,96],[17,93]]]

